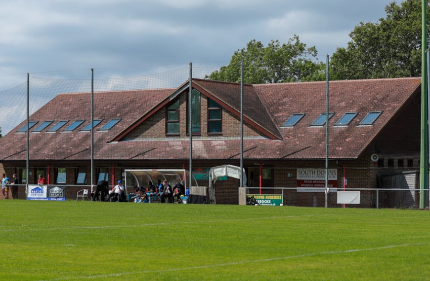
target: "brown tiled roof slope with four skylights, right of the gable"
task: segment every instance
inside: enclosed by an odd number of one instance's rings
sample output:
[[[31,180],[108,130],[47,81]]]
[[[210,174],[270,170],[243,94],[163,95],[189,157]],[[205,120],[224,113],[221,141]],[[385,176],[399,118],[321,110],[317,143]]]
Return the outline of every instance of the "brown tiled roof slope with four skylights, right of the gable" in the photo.
[[[331,158],[355,159],[383,130],[413,94],[418,94],[421,78],[368,79],[329,82],[329,112],[336,115],[329,120],[329,154]],[[282,83],[254,85],[284,143],[290,143],[289,158],[324,158],[325,127],[310,127],[318,116],[326,112],[326,83]],[[372,126],[358,123],[371,111],[383,111]],[[333,125],[346,112],[359,112],[344,127]],[[294,128],[282,128],[293,113],[306,113]]]

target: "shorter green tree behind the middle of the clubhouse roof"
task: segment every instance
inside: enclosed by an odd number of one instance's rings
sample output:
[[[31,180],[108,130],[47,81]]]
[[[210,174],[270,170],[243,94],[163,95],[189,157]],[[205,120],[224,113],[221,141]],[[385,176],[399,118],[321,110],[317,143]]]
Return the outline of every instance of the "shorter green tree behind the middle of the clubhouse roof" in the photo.
[[[212,72],[206,78],[240,82],[240,61],[244,60],[244,82],[251,84],[323,80],[324,64],[316,57],[315,46],[306,48],[298,35],[287,43],[271,40],[267,47],[255,39],[246,48],[237,50],[230,63]],[[317,60],[317,59],[315,59]]]

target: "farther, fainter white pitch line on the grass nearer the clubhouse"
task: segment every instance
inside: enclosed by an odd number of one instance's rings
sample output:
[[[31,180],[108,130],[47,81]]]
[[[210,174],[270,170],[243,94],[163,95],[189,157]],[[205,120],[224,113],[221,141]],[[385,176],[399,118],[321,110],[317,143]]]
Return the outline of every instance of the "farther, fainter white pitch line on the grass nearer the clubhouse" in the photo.
[[[293,218],[293,217],[306,217],[306,216],[327,216],[333,214],[306,214],[306,215],[290,215],[290,216],[271,216],[271,217],[255,217],[244,219],[230,219],[230,220],[201,220],[201,221],[181,221],[181,224],[195,224],[195,223],[218,223],[218,222],[233,222],[233,221],[247,221],[247,220],[262,220],[262,219],[277,219],[277,218]],[[53,228],[19,228],[19,229],[0,229],[1,232],[13,231],[49,231],[49,230],[62,230],[62,229],[102,229],[102,228],[123,228],[123,227],[141,227],[141,226],[155,226],[155,225],[172,225],[177,222],[157,222],[145,224],[132,224],[132,225],[105,225],[105,226],[69,226],[69,227],[53,227]]]

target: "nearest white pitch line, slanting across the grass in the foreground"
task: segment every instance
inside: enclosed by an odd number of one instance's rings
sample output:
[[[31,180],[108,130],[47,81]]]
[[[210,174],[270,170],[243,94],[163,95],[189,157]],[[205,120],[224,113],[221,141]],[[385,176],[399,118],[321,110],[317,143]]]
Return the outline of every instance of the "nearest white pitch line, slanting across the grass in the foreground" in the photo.
[[[293,255],[293,256],[285,256],[285,257],[274,257],[274,258],[266,258],[266,259],[258,259],[258,260],[246,260],[246,261],[219,263],[219,264],[209,264],[209,265],[192,266],[192,267],[185,267],[185,268],[182,267],[182,268],[170,268],[170,269],[163,269],[163,270],[147,270],[147,271],[135,271],[135,272],[120,272],[120,273],[112,273],[112,274],[104,274],[104,275],[93,275],[93,276],[81,276],[81,277],[62,277],[62,278],[55,278],[55,279],[44,279],[44,280],[41,280],[41,281],[94,279],[94,278],[118,277],[118,276],[124,276],[124,275],[132,275],[132,274],[162,273],[162,272],[172,272],[172,271],[205,269],[205,268],[223,267],[223,266],[231,266],[231,265],[240,265],[240,264],[247,264],[247,263],[267,262],[267,261],[282,260],[282,259],[302,258],[302,257],[316,256],[316,255],[332,255],[332,254],[360,252],[360,251],[373,251],[373,250],[389,249],[389,248],[395,248],[395,247],[420,246],[420,245],[427,245],[427,244],[429,244],[429,243],[414,243],[414,244],[402,244],[402,245],[389,245],[389,246],[366,248],[366,249],[350,249],[350,250],[342,250],[342,251],[309,253],[309,254],[302,254],[302,255]]]

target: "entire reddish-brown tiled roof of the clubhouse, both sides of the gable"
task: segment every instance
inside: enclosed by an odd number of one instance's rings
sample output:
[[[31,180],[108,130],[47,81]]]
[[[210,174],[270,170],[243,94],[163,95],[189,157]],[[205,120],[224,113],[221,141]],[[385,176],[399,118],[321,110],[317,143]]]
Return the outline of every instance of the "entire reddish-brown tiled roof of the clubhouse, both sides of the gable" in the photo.
[[[240,112],[240,85],[193,79],[195,87],[234,111]],[[330,158],[356,159],[384,130],[387,123],[402,106],[419,94],[420,78],[330,81],[330,111],[336,118],[330,120]],[[163,160],[188,159],[187,139],[147,139],[121,141],[130,127],[144,122],[144,116],[153,114],[167,101],[175,89],[136,90],[94,93],[94,119],[103,119],[101,128],[110,119],[122,120],[107,132],[94,134],[94,157],[104,160]],[[245,85],[244,115],[248,123],[258,127],[272,139],[245,138],[246,159],[294,160],[324,159],[325,128],[309,125],[325,112],[325,82]],[[33,121],[86,119],[79,130],[72,133],[31,133],[30,157],[34,160],[88,160],[90,134],[80,129],[90,120],[87,106],[90,96],[60,94],[44,105],[30,119]],[[84,106],[86,105],[86,106]],[[359,115],[345,127],[333,127],[345,112]],[[373,126],[357,127],[370,111],[383,111]],[[60,116],[56,116],[61,112]],[[293,113],[306,113],[293,128],[282,124]],[[69,122],[69,124],[71,123]],[[0,159],[25,160],[26,135],[15,133],[25,125],[22,122],[0,140]],[[66,125],[67,126],[67,125]],[[112,141],[119,139],[120,141]],[[194,138],[194,159],[239,159],[239,138]]]

